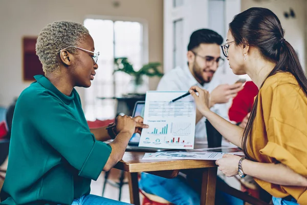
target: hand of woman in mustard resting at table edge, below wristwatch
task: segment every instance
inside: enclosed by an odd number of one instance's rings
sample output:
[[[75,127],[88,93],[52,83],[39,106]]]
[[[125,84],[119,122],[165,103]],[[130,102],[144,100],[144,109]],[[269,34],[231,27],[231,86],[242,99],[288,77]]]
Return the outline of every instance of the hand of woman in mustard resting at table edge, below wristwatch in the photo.
[[[223,158],[215,161],[218,169],[228,177],[238,174],[238,166],[241,157],[231,154],[224,154]]]

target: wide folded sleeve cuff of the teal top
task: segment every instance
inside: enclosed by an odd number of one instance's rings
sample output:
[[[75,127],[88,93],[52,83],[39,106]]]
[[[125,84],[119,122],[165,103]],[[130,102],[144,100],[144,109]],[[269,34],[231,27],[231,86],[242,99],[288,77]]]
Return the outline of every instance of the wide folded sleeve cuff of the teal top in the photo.
[[[111,146],[101,141],[95,141],[89,156],[87,156],[87,159],[79,172],[79,176],[97,180],[111,154],[111,151]]]

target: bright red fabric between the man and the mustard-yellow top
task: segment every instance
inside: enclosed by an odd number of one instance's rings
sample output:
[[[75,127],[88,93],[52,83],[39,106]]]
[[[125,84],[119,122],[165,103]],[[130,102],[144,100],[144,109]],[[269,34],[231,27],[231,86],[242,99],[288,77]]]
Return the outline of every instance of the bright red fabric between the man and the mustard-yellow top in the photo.
[[[235,122],[242,122],[244,117],[252,111],[254,97],[258,94],[258,87],[252,82],[247,81],[243,90],[233,98],[229,108],[229,119]]]

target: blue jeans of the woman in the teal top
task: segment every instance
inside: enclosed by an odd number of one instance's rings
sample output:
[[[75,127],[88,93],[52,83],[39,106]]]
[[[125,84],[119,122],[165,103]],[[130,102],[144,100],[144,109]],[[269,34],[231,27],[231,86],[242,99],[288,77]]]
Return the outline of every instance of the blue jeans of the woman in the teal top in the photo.
[[[86,195],[81,196],[78,199],[75,199],[72,203],[72,205],[98,205],[98,204],[104,204],[104,205],[128,205],[128,203],[124,203],[121,201],[115,201],[112,199],[104,198],[101,196],[96,195]]]

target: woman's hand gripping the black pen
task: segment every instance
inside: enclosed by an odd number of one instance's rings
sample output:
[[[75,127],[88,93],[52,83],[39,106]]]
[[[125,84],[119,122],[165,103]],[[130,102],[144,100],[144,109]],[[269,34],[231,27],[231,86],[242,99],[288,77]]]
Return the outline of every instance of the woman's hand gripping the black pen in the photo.
[[[193,98],[195,99],[195,104],[198,110],[204,115],[204,112],[209,111],[209,92],[203,90],[198,86],[192,86],[189,90]],[[195,92],[198,92],[199,95],[196,95]]]

